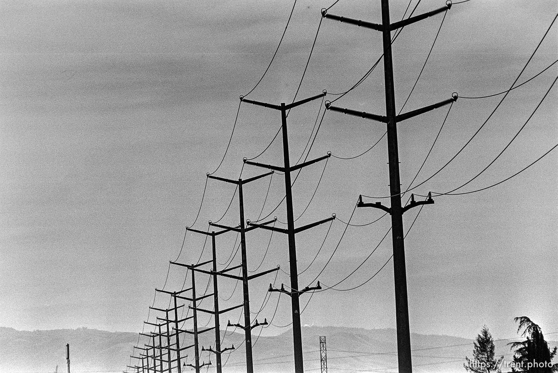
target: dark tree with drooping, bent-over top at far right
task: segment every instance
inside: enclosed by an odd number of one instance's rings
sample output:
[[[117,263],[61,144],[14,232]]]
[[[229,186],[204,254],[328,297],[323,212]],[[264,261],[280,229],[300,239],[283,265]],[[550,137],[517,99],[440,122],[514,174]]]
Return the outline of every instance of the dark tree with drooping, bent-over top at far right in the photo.
[[[510,350],[516,349],[513,354],[513,372],[526,371],[530,373],[558,372],[558,364],[552,364],[556,355],[556,347],[552,352],[549,344],[542,335],[541,328],[527,316],[516,317],[513,321],[519,323],[517,332],[521,330],[525,341],[508,343]]]

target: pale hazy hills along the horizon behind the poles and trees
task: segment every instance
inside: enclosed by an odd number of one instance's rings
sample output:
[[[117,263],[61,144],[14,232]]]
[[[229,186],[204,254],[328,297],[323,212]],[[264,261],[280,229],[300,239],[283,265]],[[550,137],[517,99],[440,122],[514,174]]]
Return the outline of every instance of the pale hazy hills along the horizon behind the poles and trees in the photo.
[[[222,332],[222,335],[224,331]],[[200,335],[200,344],[213,344],[213,332]],[[393,329],[367,330],[345,327],[305,327],[303,332],[305,371],[320,372],[319,336],[326,336],[328,370],[336,368],[355,371],[397,371],[396,332]],[[412,334],[413,366],[416,372],[464,372],[464,356],[472,355],[473,341],[466,338]],[[71,372],[121,372],[126,365],[135,364],[129,355],[138,335],[129,332],[106,332],[88,328],[76,330],[17,331],[0,327],[0,372],[2,373],[59,373],[66,371],[65,346],[70,343]],[[237,350],[223,356],[227,360],[224,372],[246,371],[244,367],[244,335],[229,330],[223,347],[234,344]],[[292,332],[273,337],[252,338],[254,370],[256,372],[292,372]],[[142,343],[145,343],[142,340]],[[191,341],[189,341],[191,342]],[[496,341],[497,355],[510,358],[508,340]],[[191,343],[190,343],[191,344]],[[557,343],[550,342],[552,346]],[[190,351],[190,352],[187,352]],[[187,364],[193,362],[193,352],[187,350]],[[201,360],[208,361],[206,352]],[[215,356],[211,356],[214,364]],[[185,372],[189,372],[186,369]],[[211,366],[209,371],[215,371]],[[504,370],[508,371],[508,370]]]

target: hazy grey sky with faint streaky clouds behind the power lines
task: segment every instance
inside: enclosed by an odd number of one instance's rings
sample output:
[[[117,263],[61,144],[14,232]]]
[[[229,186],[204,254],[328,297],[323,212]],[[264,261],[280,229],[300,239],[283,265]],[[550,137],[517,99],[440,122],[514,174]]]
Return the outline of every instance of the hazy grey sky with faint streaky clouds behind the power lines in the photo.
[[[275,110],[247,103],[239,109],[239,95],[251,92],[252,100],[290,103],[318,26],[297,99],[325,89],[326,100],[333,101],[381,55],[377,31],[328,19],[320,24],[320,9],[331,3],[296,2],[275,59],[251,91],[277,48],[290,1],[2,1],[0,326],[141,331],[149,306],[168,306],[169,298],[154,298],[154,289],[179,290],[190,282],[169,260],[196,263],[211,255],[204,236],[185,234],[185,227],[195,222],[195,229],[207,230],[209,220],[222,216],[225,225],[239,223],[234,187],[206,183],[206,173],[261,174],[263,169],[243,168],[242,158],[261,153],[280,126]],[[390,3],[392,19],[401,19],[407,2]],[[415,14],[443,4],[422,1]],[[379,2],[341,0],[328,12],[381,22]],[[556,3],[546,0],[454,4],[403,112],[448,99],[454,91],[473,97],[509,89],[555,14]],[[442,18],[405,27],[393,44],[398,110]],[[556,60],[556,35],[554,25],[518,83]],[[382,67],[383,62],[334,105],[385,113]],[[526,123],[555,74],[556,65],[512,90],[464,150],[413,192],[448,192],[482,171]],[[431,147],[413,186],[454,157],[502,97],[460,98],[445,122],[449,106],[398,124],[402,188]],[[556,98],[554,86],[502,156],[458,192],[502,181],[555,146]],[[312,101],[288,116],[291,163],[306,156],[305,145],[323,115],[320,105],[321,99]],[[308,159],[328,151],[357,156],[385,132],[382,123],[329,111],[319,128]],[[256,161],[281,165],[280,138]],[[377,209],[352,213],[359,194],[389,195],[386,163],[382,138],[363,156],[331,157],[325,168],[320,162],[300,173],[293,187],[294,214],[304,214],[296,225],[338,217],[297,235],[299,271],[311,263],[299,276],[301,286],[315,284],[316,277],[335,284],[376,246],[335,288],[363,284],[388,261],[391,234],[381,241],[391,226],[387,216],[365,226],[344,224],[350,218],[351,224],[363,225],[382,216]],[[516,336],[513,318],[518,316],[530,317],[544,332],[558,331],[556,166],[554,151],[498,186],[435,197],[434,205],[424,206],[405,241],[412,332],[474,338],[486,324],[495,338],[510,338]],[[247,185],[247,219],[271,214],[283,226],[284,203],[271,212],[283,195],[281,175]],[[405,231],[418,211],[404,216]],[[218,236],[219,268],[240,263],[236,238]],[[247,234],[247,246],[250,270],[261,264],[259,270],[280,265],[288,272],[284,235],[254,230]],[[264,306],[258,318],[273,319],[264,335],[281,333],[291,322],[286,297],[266,298],[270,283],[280,286],[290,279],[280,270],[251,283],[252,309]],[[204,290],[207,284],[200,275],[197,287]],[[230,297],[222,307],[240,302],[234,280],[220,280],[219,286],[222,298]],[[309,302],[302,323],[395,327],[393,292],[389,261],[357,289],[318,292],[310,301],[310,294],[301,296],[302,307]],[[149,317],[153,321],[153,313]],[[223,315],[223,323],[227,317],[237,315]]]

